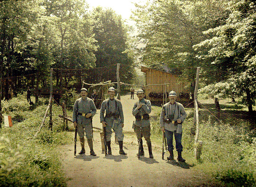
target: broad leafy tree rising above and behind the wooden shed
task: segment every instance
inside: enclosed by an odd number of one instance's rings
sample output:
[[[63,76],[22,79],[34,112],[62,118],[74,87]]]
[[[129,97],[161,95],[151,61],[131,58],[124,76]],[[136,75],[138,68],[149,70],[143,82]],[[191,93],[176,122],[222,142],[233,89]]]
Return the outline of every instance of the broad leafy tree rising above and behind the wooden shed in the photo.
[[[226,0],[153,0],[136,4],[132,18],[138,27],[139,55],[144,64],[165,63],[169,68],[202,65],[193,45],[211,36],[203,31],[224,23]],[[183,69],[195,81],[195,69]]]

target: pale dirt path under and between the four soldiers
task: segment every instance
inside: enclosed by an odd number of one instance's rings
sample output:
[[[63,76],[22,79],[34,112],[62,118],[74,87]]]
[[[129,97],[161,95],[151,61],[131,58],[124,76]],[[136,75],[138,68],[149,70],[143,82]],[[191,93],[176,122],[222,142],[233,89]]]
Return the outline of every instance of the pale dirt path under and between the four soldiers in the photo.
[[[136,99],[129,99],[129,95],[122,96],[125,131],[132,131],[131,115],[133,103]],[[99,110],[93,118],[93,126],[102,127],[99,123]],[[74,133],[74,132],[73,132]],[[114,135],[114,134],[113,134]],[[143,139],[145,156],[136,157],[138,142],[132,133],[125,133],[124,150],[127,156],[119,155],[119,147],[114,144],[112,136],[113,155],[102,154],[101,140],[98,131],[94,131],[94,151],[96,157],[89,155],[86,142],[86,153],[74,156],[74,145],[60,147],[63,170],[67,178],[68,187],[180,187],[180,186],[210,186],[207,176],[193,170],[193,166],[177,161],[162,160],[161,147],[153,143],[154,159],[149,159],[145,140]],[[80,144],[77,142],[77,153]],[[176,155],[174,153],[174,155]]]

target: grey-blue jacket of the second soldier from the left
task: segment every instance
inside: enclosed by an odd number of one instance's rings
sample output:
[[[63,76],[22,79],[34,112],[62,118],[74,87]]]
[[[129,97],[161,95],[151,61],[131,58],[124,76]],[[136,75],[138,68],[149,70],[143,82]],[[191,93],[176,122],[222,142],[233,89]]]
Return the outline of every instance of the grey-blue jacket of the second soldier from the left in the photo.
[[[108,103],[109,103],[109,105],[108,105]],[[113,100],[106,99],[102,102],[101,111],[100,111],[101,122],[105,121],[105,119],[104,119],[105,111],[111,111],[112,113],[116,112],[116,103],[117,103],[117,111],[119,112],[120,122],[124,123],[124,113],[123,113],[122,103],[120,102],[120,100],[118,100],[116,98],[114,98]]]

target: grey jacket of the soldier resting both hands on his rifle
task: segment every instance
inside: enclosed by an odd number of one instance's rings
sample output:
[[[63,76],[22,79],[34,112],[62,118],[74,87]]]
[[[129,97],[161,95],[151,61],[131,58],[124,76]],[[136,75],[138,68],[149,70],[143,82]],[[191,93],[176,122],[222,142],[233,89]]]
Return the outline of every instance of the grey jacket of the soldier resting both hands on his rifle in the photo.
[[[141,108],[139,108],[139,110],[137,109],[138,103],[144,103],[145,105],[143,105]],[[136,114],[139,113],[139,115],[143,115],[143,114],[150,114],[151,112],[151,102],[150,100],[147,99],[142,99],[139,102],[134,103],[134,106],[132,108],[132,115],[136,116]],[[142,113],[141,113],[142,112]],[[142,119],[141,121],[134,121],[134,125],[139,126],[140,124],[142,127],[146,127],[146,126],[150,126],[150,119]]]

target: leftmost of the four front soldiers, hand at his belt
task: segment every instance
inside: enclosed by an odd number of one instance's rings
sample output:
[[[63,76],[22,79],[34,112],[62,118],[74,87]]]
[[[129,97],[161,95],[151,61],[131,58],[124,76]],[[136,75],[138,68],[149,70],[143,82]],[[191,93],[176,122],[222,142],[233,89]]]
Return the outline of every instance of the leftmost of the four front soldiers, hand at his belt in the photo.
[[[87,142],[90,148],[90,155],[96,156],[93,151],[93,135],[92,135],[92,124],[91,118],[96,114],[96,107],[92,99],[87,98],[87,89],[82,88],[80,90],[81,98],[76,99],[73,109],[73,118],[74,127],[77,126],[78,135],[80,138],[80,144],[82,150],[79,154],[85,153],[84,149],[84,132],[87,138]]]

